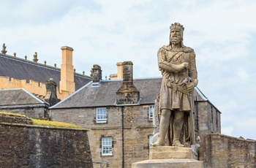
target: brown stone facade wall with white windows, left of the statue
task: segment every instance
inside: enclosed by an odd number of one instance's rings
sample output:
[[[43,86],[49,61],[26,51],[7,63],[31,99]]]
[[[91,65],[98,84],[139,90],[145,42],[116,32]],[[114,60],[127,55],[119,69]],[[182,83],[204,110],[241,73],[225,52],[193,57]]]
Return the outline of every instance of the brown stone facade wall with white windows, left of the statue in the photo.
[[[143,161],[149,157],[149,136],[153,134],[153,123],[148,119],[148,105],[106,107],[107,123],[96,123],[96,108],[75,108],[50,110],[52,121],[65,121],[91,129],[89,142],[94,168],[99,167],[131,167],[132,163]],[[122,127],[122,110],[124,127]],[[124,131],[124,145],[122,131]],[[112,137],[113,155],[102,156],[102,137]],[[123,156],[124,148],[124,156]]]

